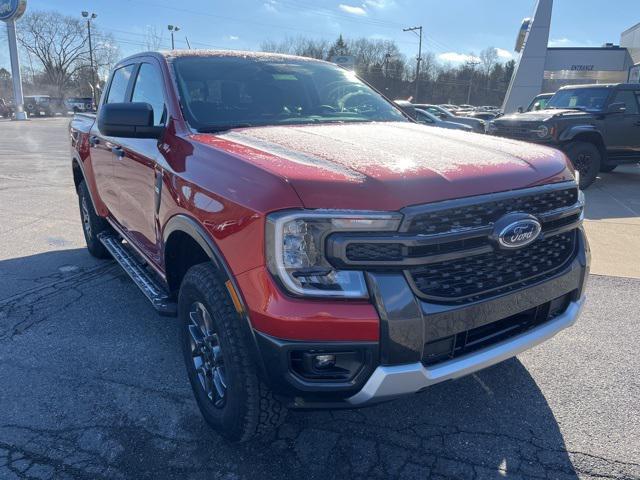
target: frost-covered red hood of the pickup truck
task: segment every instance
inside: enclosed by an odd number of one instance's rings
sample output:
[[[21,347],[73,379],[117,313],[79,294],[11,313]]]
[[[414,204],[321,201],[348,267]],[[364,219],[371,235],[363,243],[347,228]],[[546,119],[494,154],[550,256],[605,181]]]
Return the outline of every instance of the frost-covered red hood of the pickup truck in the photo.
[[[558,150],[408,122],[244,128],[195,139],[284,178],[307,208],[398,210],[573,178]]]

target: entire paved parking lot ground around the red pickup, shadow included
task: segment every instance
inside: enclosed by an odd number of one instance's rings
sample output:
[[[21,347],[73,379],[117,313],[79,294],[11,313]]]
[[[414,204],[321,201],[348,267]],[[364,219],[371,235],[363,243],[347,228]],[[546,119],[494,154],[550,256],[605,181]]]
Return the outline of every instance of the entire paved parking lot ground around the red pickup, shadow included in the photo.
[[[589,189],[573,328],[478,374],[227,444],[174,319],[89,256],[68,119],[0,120],[0,479],[640,478],[640,168]]]

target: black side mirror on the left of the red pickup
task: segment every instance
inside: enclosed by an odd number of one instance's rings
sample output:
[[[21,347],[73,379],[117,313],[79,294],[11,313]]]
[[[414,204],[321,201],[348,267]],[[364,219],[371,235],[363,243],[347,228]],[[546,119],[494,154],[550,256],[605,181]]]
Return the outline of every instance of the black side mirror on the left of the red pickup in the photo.
[[[107,103],[98,114],[98,129],[107,137],[160,138],[164,127],[153,125],[153,107],[144,102]]]

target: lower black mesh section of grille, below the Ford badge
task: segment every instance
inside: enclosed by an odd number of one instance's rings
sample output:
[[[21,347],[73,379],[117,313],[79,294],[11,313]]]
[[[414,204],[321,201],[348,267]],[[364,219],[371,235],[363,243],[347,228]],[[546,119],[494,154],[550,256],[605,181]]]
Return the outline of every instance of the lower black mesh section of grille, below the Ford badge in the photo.
[[[553,276],[575,251],[575,231],[538,240],[515,252],[493,251],[408,270],[420,296],[436,302],[481,300]]]

